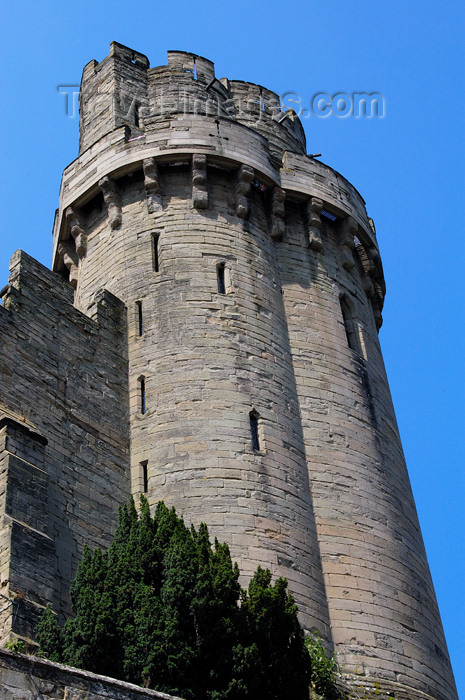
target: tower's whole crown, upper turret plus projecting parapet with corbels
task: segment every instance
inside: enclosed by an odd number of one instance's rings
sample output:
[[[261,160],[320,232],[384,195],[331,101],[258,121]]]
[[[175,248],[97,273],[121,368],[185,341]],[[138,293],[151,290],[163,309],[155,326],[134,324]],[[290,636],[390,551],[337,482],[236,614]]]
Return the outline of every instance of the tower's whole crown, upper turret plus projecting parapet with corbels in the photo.
[[[221,166],[235,173],[239,219],[249,216],[254,180],[270,193],[269,233],[277,243],[285,238],[286,201],[296,200],[305,208],[314,252],[325,249],[321,211],[336,218],[340,264],[347,273],[355,264],[354,236],[372,251],[369,255],[377,251],[363,199],[339,173],[305,155],[302,125],[292,110],[282,111],[278,95],[252,83],[220,81],[214,64],[195,54],[170,51],[167,65],[150,68],[145,56],[113,42],[107,58],[84,69],[81,149],[62,181],[54,269],[77,288],[87,249],[85,212],[99,192],[111,229],[118,229],[125,215],[119,183],[141,173],[147,211],[158,215],[164,197],[161,172],[184,161],[191,162],[195,210],[210,206],[208,167]],[[347,221],[351,229],[343,232]],[[384,289],[379,265],[365,277],[379,314]]]

